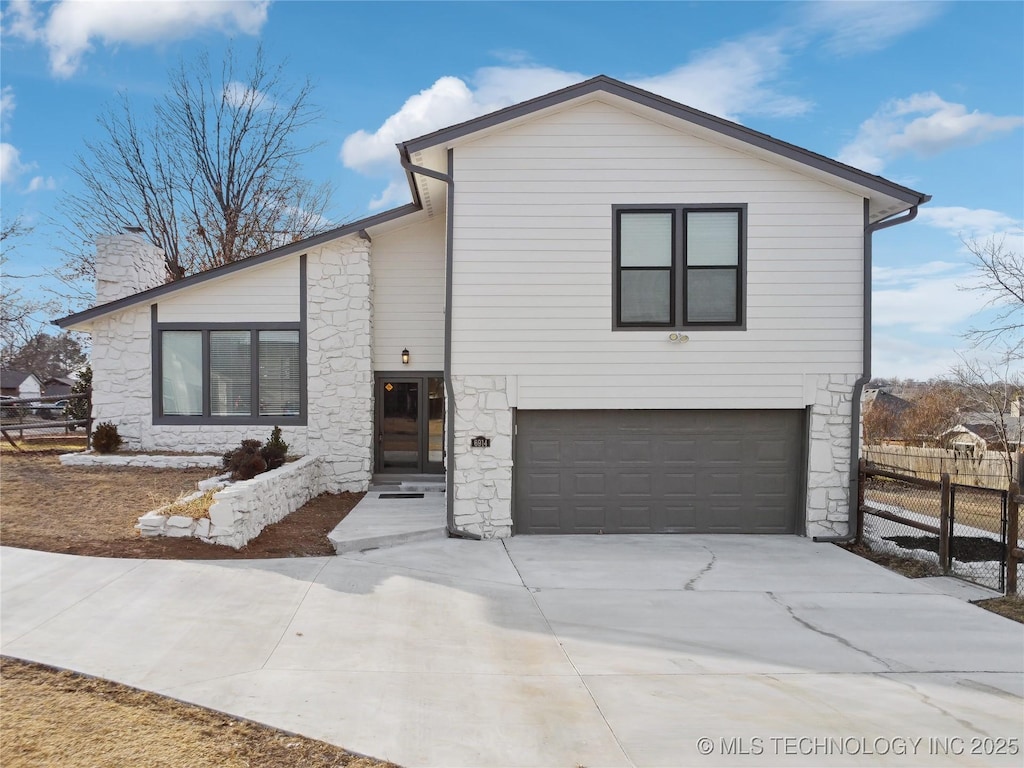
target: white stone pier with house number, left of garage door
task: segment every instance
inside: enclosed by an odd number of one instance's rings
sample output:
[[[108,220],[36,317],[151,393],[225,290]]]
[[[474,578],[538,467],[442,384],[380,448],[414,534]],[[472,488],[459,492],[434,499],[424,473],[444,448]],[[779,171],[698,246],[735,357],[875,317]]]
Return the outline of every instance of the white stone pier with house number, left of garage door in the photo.
[[[504,376],[453,376],[455,525],[483,537],[512,535],[512,411]],[[489,447],[471,447],[482,435]]]

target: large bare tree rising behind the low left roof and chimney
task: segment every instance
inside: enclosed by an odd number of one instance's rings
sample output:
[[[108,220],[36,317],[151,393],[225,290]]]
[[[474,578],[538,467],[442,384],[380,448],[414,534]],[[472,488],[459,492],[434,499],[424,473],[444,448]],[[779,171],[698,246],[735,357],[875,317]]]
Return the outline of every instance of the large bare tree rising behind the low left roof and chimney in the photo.
[[[259,49],[244,72],[231,51],[216,72],[206,54],[180,63],[152,113],[122,95],[74,167],[84,190],[63,200],[61,276],[94,276],[95,237],[130,226],[164,250],[171,280],[327,228],[330,185],[299,167],[315,146],[298,142],[319,118],[311,93]]]

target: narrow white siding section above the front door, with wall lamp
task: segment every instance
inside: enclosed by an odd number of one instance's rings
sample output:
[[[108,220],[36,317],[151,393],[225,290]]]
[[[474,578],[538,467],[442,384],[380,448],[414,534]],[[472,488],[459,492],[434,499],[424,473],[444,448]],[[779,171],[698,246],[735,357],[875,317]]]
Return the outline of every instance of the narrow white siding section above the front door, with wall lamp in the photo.
[[[378,234],[372,254],[375,370],[443,370],[443,214]]]

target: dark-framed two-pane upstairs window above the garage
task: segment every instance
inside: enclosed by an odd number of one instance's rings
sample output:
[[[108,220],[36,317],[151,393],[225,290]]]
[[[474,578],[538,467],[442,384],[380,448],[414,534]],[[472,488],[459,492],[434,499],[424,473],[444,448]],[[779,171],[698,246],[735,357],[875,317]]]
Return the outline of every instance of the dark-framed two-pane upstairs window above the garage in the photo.
[[[744,207],[615,206],[616,329],[742,328]]]

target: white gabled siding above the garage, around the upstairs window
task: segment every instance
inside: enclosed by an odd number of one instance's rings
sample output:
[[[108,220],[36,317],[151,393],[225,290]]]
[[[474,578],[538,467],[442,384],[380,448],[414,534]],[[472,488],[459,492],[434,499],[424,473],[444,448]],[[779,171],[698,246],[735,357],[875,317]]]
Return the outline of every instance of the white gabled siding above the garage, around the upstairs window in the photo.
[[[862,200],[590,101],[455,150],[453,373],[522,409],[802,408],[859,374]],[[746,330],[611,330],[611,206],[746,204]],[[380,304],[378,303],[378,306]]]

